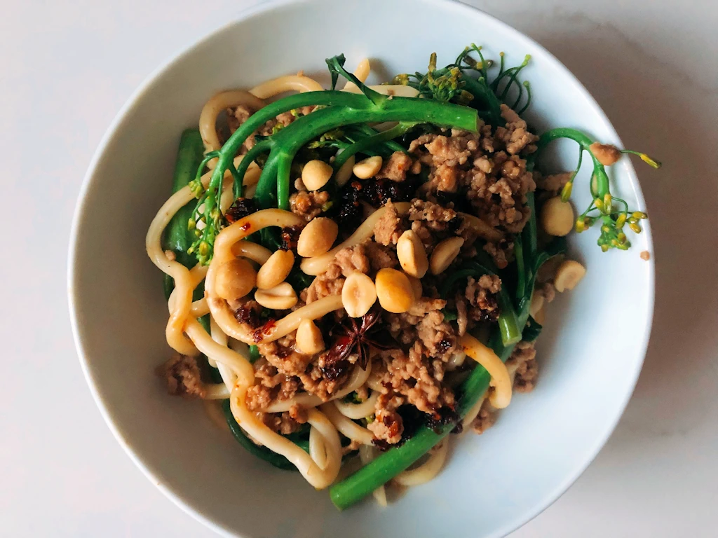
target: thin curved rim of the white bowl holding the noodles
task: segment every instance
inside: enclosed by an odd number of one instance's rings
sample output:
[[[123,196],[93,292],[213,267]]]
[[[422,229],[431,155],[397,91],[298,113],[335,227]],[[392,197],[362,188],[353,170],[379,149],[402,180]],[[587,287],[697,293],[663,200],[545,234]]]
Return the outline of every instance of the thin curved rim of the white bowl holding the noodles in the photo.
[[[174,54],[170,55],[166,60],[161,62],[159,66],[154,68],[154,70],[152,70],[149,75],[146,76],[143,82],[141,82],[141,84],[136,88],[136,90],[134,90],[134,92],[118,110],[118,113],[116,113],[115,117],[111,121],[106,132],[103,134],[100,142],[98,143],[98,147],[97,149],[95,149],[92,159],[90,159],[90,164],[88,164],[88,170],[85,173],[83,182],[80,187],[80,192],[78,194],[78,202],[75,205],[73,221],[70,228],[70,244],[67,257],[67,298],[70,310],[70,326],[73,333],[73,340],[75,342],[75,349],[78,352],[80,367],[82,368],[85,381],[88,384],[90,392],[93,396],[93,399],[95,400],[95,404],[100,410],[103,420],[108,425],[108,428],[110,428],[113,436],[122,446],[123,450],[127,453],[129,458],[140,469],[140,471],[142,471],[144,476],[146,476],[149,481],[151,481],[152,483],[154,483],[155,486],[157,486],[159,491],[162,491],[162,493],[167,496],[170,501],[179,506],[187,514],[192,516],[197,522],[204,524],[206,527],[213,529],[213,531],[225,537],[243,537],[245,535],[237,534],[233,529],[218,524],[218,522],[215,522],[215,520],[212,519],[211,516],[205,514],[205,512],[201,511],[195,506],[192,506],[189,501],[186,501],[183,498],[181,491],[174,491],[174,489],[170,488],[169,486],[165,486],[164,483],[162,483],[162,481],[159,479],[159,477],[155,476],[154,471],[148,466],[146,466],[141,456],[135,452],[131,443],[129,443],[128,440],[123,438],[120,428],[114,421],[111,408],[105,402],[103,394],[98,387],[98,384],[95,383],[93,372],[90,368],[90,359],[88,359],[88,356],[85,354],[83,339],[80,335],[80,326],[78,323],[79,300],[76,297],[76,291],[80,286],[80,282],[78,280],[78,269],[76,268],[76,265],[79,265],[78,235],[85,217],[88,193],[90,192],[90,189],[95,186],[94,184],[96,183],[96,170],[98,169],[99,164],[101,164],[101,161],[106,158],[106,151],[108,147],[111,146],[111,143],[113,142],[114,138],[116,138],[117,131],[126,121],[126,116],[128,115],[129,111],[136,105],[139,100],[141,100],[141,98],[144,97],[144,94],[149,90],[149,88],[151,88],[151,85],[153,85],[159,77],[162,77],[162,75],[164,75],[165,72],[170,70],[175,64],[181,62],[185,58],[185,56],[190,55],[190,53],[197,49],[197,47],[200,47],[202,44],[205,44],[211,39],[214,39],[218,34],[227,31],[231,27],[235,27],[238,24],[241,24],[242,22],[246,21],[246,19],[251,19],[253,16],[264,14],[267,11],[272,11],[288,4],[304,4],[310,3],[311,1],[312,0],[269,0],[256,6],[250,6],[246,9],[242,9],[241,11],[238,11],[236,16],[234,16],[230,22],[216,27],[215,29],[211,29],[209,32],[202,34],[202,36],[199,38],[192,38],[192,41],[189,44],[182,45],[182,47],[176,52],[174,52]],[[595,108],[595,112],[599,116],[601,123],[603,123],[603,127],[606,128],[607,133],[610,133],[610,136],[612,136],[612,138],[618,144],[620,144],[620,146],[623,146],[623,143],[621,142],[615,128],[613,127],[605,111],[597,103],[593,95],[587,90],[587,88],[585,88],[585,86],[576,77],[576,75],[574,75],[573,72],[563,64],[563,62],[561,62],[560,60],[558,60],[558,58],[551,54],[548,49],[543,47],[531,37],[528,37],[528,35],[510,26],[510,24],[501,21],[497,17],[488,14],[486,11],[475,6],[463,4],[461,1],[456,0],[421,1],[424,3],[424,6],[441,6],[442,9],[454,9],[454,11],[457,11],[458,14],[464,13],[470,14],[470,16],[482,16],[485,19],[489,19],[493,24],[496,24],[498,27],[502,28],[505,32],[513,34],[514,39],[517,39],[519,42],[523,41],[526,43],[526,45],[528,45],[528,47],[532,47],[533,49],[537,49],[538,51],[540,51],[546,56],[547,60],[555,62],[556,67],[561,70],[564,70],[564,72],[569,76],[572,82],[574,82],[574,84],[576,84],[577,87],[584,93],[584,97],[587,98],[592,107]],[[645,208],[643,191],[640,188],[640,182],[638,181],[638,176],[635,173],[633,164],[628,160],[625,164],[626,172],[630,177],[631,187],[633,188],[633,192],[638,201],[638,205],[639,207]],[[575,481],[577,481],[577,479],[584,473],[584,471],[586,471],[588,466],[598,456],[598,453],[600,453],[600,450],[602,450],[602,448],[607,443],[608,439],[615,430],[618,421],[625,412],[625,408],[628,405],[628,402],[633,395],[633,391],[635,390],[635,385],[638,382],[638,376],[643,367],[643,362],[645,361],[645,354],[648,350],[648,339],[651,335],[651,327],[653,325],[653,313],[655,307],[656,262],[654,259],[655,256],[653,255],[654,250],[651,234],[651,225],[648,221],[645,221],[645,224],[642,223],[642,226],[643,234],[648,245],[648,250],[649,252],[651,252],[651,258],[649,260],[646,260],[646,263],[648,263],[648,271],[646,273],[648,277],[648,296],[646,297],[647,317],[645,327],[643,328],[643,334],[637,335],[637,338],[640,338],[640,353],[638,354],[639,359],[635,361],[633,370],[630,372],[626,372],[628,374],[628,377],[630,377],[630,390],[627,390],[625,392],[625,395],[623,395],[623,401],[620,402],[620,406],[618,408],[620,411],[616,413],[615,417],[612,417],[612,420],[610,420],[610,423],[607,425],[607,428],[605,428],[605,430],[603,430],[597,437],[597,443],[595,443],[595,445],[593,445],[592,448],[588,451],[589,457],[586,459],[585,463],[582,466],[579,466],[575,473],[573,473],[571,476],[567,476],[566,478],[564,478],[564,480],[561,481],[554,488],[554,490],[551,491],[550,494],[545,495],[540,502],[536,503],[536,505],[533,506],[533,509],[526,511],[523,514],[518,514],[516,517],[508,521],[503,528],[497,529],[495,534],[491,534],[490,536],[505,536],[506,534],[509,534],[510,532],[513,532],[516,529],[523,527],[523,525],[530,522],[532,519],[538,516],[538,514],[541,514],[541,512],[549,508],[549,506],[554,504],[554,502],[556,502],[564,493],[566,493],[566,491],[568,491],[568,489],[574,484]]]

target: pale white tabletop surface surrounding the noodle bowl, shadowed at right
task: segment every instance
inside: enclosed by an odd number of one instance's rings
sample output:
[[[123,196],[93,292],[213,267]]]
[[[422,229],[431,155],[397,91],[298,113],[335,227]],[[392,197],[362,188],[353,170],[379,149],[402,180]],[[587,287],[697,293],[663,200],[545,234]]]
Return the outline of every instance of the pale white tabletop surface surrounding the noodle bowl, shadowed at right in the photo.
[[[643,174],[658,289],[633,400],[584,476],[515,536],[715,536],[718,4],[470,3],[548,47],[627,146],[665,164]],[[85,168],[123,102],[159,62],[253,2],[0,4],[0,534],[213,536],[141,475],[95,409],[70,336],[65,258]]]

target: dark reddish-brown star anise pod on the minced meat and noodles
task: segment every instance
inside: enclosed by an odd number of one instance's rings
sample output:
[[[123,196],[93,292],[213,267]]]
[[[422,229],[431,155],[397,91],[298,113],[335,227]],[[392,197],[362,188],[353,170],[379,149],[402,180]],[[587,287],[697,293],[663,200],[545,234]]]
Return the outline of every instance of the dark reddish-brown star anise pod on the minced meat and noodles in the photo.
[[[381,311],[373,308],[365,313],[360,320],[358,318],[346,318],[341,324],[337,324],[332,331],[332,346],[327,356],[327,362],[335,363],[357,354],[357,363],[360,367],[366,368],[369,364],[370,349],[391,349],[398,347],[396,341],[386,329],[377,325],[381,320]]]

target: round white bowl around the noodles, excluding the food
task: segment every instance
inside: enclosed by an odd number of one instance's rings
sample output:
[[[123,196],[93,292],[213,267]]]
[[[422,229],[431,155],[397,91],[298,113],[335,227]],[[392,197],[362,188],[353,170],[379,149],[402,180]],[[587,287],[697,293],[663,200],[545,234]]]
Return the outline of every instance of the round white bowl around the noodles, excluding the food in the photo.
[[[70,249],[70,308],[80,361],[108,425],[144,473],[183,509],[219,532],[246,537],[413,538],[500,536],[561,495],[596,456],[628,402],[653,312],[650,230],[628,253],[601,253],[597,230],[572,237],[588,273],[551,305],[540,339],[540,379],[516,395],[484,435],[465,435],[431,483],[387,509],[345,512],[299,473],[276,470],[218,430],[197,402],[168,397],[153,368],[169,349],[162,274],[144,251],[151,218],[169,194],[177,142],[218,90],[304,70],[325,73],[344,52],[368,56],[386,80],[424,70],[429,53],[450,62],[471,42],[510,65],[531,54],[530,118],[539,129],[573,126],[620,140],[585,88],[549,52],[480,11],[452,1],[305,0],[263,4],[159,69],[129,100],[98,148],[80,196]],[[326,80],[326,77],[324,77]],[[555,161],[574,165],[571,143]],[[588,202],[587,172],[577,186]],[[615,193],[643,207],[628,160],[612,169]],[[646,227],[647,228],[647,227]],[[630,309],[630,311],[629,311]]]

